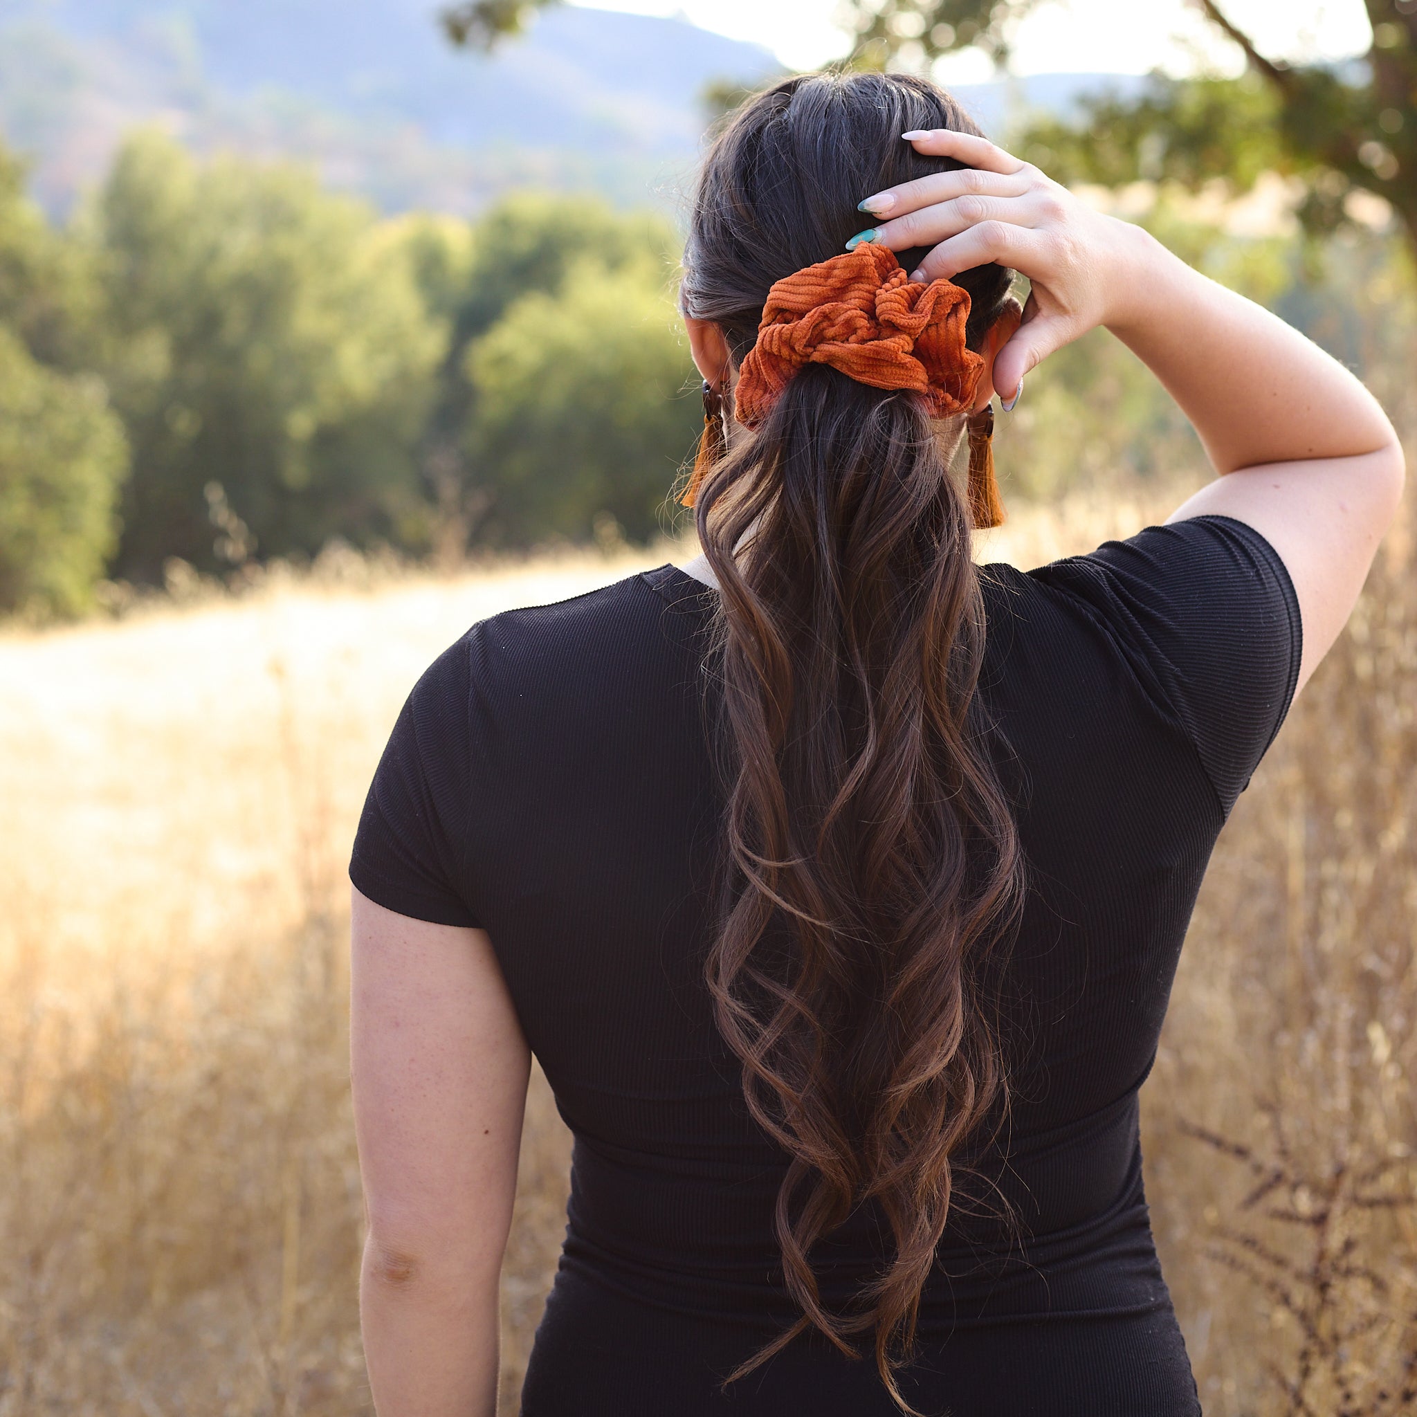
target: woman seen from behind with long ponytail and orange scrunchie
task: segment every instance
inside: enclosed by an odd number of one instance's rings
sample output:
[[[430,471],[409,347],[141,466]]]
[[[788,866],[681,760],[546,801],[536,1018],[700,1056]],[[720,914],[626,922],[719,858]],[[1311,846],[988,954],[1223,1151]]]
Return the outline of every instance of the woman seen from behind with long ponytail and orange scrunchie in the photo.
[[[1216,835],[1396,506],[1393,429],[896,75],[744,106],[683,307],[703,555],[473,626],[360,826],[377,1408],[495,1410],[534,1051],[575,1156],[529,1417],[1195,1413],[1136,1090]],[[1217,478],[976,568],[995,390],[1098,324]]]

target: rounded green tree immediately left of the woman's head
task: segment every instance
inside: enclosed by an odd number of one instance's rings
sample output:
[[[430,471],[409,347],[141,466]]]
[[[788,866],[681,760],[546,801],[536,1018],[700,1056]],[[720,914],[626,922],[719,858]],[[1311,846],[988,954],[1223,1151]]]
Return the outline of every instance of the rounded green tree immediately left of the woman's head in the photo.
[[[465,446],[490,482],[489,538],[584,540],[605,514],[632,540],[653,536],[703,421],[657,261],[582,256],[557,292],[517,299],[466,366]]]

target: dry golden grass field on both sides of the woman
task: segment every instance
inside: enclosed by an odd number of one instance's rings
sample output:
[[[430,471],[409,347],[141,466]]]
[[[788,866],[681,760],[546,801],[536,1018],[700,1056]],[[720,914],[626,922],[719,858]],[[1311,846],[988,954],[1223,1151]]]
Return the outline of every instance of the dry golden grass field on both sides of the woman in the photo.
[[[985,554],[1034,563],[1159,510],[1020,513]],[[288,585],[0,636],[0,1417],[370,1411],[353,823],[439,649],[629,568]],[[1414,1401],[1414,707],[1394,537],[1226,829],[1144,1094],[1158,1238],[1216,1417]],[[565,1156],[537,1080],[507,1411]]]

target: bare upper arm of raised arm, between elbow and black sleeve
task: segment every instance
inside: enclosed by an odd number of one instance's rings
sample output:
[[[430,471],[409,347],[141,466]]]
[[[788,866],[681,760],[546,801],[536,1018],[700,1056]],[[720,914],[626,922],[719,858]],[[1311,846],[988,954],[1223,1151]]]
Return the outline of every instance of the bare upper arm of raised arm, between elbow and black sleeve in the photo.
[[[1396,442],[1353,458],[1241,468],[1207,483],[1168,521],[1227,516],[1254,527],[1274,547],[1299,602],[1302,687],[1363,589],[1397,509],[1403,475]]]

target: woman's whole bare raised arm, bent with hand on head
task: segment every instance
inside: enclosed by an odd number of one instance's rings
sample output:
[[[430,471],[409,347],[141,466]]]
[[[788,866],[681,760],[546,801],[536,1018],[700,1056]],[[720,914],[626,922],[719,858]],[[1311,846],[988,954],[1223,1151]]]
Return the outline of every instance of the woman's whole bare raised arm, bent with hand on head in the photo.
[[[1029,278],[1023,324],[993,366],[1005,394],[1098,324],[1151,367],[1220,473],[1172,520],[1231,516],[1275,548],[1304,622],[1302,684],[1343,628],[1401,495],[1401,448],[1377,401],[1268,310],[993,143],[947,129],[904,136],[968,166],[867,197],[862,208],[883,220],[866,238],[932,247],[917,279],[986,261]]]

